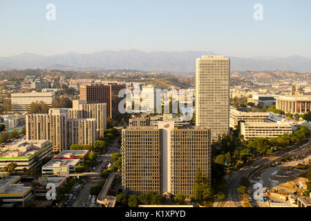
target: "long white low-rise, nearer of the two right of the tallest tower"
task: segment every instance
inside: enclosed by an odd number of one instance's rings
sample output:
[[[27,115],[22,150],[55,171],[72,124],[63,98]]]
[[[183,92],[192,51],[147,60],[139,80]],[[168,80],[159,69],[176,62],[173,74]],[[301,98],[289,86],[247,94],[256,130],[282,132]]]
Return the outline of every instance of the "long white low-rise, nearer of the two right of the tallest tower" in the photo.
[[[278,137],[284,133],[292,133],[292,124],[289,122],[241,122],[241,135],[245,140],[256,137]]]

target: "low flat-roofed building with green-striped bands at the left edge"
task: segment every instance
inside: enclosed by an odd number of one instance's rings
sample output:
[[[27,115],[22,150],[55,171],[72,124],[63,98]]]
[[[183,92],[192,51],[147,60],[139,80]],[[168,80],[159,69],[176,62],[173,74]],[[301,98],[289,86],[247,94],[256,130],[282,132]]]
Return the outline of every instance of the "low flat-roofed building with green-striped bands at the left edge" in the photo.
[[[0,152],[0,167],[16,163],[17,172],[23,169],[31,169],[41,164],[46,157],[53,156],[53,145],[49,140],[18,140],[6,144]]]

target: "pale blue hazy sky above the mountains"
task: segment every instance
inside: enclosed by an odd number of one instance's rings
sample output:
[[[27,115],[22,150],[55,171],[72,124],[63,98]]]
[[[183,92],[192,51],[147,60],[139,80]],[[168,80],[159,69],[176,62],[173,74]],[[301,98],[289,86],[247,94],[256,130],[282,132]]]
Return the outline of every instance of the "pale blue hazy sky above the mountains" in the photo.
[[[46,19],[46,5],[56,20]],[[263,21],[255,21],[255,3]],[[0,56],[32,52],[206,50],[311,57],[311,1],[0,1]]]

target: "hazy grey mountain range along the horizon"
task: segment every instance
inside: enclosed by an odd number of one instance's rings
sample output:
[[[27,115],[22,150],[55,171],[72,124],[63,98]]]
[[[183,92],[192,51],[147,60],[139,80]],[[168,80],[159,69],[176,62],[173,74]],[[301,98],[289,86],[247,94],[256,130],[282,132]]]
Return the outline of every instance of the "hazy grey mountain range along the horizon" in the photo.
[[[141,50],[104,50],[88,54],[70,52],[43,56],[30,53],[0,57],[0,70],[45,68],[59,70],[135,69],[144,71],[169,71],[194,73],[196,58],[216,55],[207,51],[144,52]],[[230,57],[231,70],[311,70],[311,59],[294,55],[290,57]]]

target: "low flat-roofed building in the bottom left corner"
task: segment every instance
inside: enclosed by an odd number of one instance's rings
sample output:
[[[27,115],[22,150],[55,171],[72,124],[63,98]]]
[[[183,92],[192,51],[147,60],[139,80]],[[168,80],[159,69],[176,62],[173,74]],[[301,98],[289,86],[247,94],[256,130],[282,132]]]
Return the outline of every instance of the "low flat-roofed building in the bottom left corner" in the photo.
[[[21,204],[22,206],[32,198],[32,187],[19,184],[20,176],[10,175],[8,172],[0,172],[0,200],[7,207]]]

